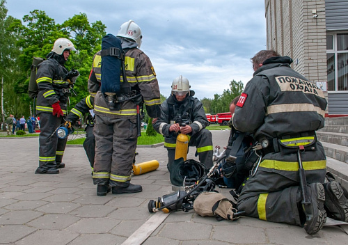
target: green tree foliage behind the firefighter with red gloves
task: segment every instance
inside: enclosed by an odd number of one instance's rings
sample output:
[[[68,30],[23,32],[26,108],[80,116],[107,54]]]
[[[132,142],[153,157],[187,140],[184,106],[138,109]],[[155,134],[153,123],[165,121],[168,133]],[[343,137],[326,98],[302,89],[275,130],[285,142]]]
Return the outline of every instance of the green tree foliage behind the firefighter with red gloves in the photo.
[[[54,19],[42,10],[33,10],[28,15],[24,15],[22,22],[19,19],[7,17],[4,3],[6,1],[0,0],[0,31],[3,33],[0,37],[0,75],[8,74],[5,78],[6,86],[4,86],[6,94],[4,99],[8,102],[5,106],[6,113],[17,116],[31,114],[33,100],[28,96],[28,86],[33,57],[45,58],[51,52],[57,38],[70,39],[79,51],[72,52],[65,63],[68,70],[73,68],[80,73],[74,85],[77,96],[70,97],[68,109],[71,109],[88,95],[87,81],[93,55],[101,49],[102,37],[106,35],[106,26],[101,21],[88,22],[88,17],[84,13],[74,15],[63,24],[56,24]],[[3,55],[5,50],[13,54]]]

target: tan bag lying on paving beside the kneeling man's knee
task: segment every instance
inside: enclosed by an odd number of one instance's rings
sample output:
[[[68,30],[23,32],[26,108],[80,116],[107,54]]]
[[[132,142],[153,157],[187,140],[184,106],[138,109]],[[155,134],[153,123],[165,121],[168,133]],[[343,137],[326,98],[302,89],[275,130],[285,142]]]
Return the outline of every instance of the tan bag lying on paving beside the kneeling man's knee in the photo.
[[[193,202],[193,210],[200,216],[212,216],[217,221],[227,219],[234,221],[239,218],[236,216],[237,203],[229,200],[223,194],[204,191]]]

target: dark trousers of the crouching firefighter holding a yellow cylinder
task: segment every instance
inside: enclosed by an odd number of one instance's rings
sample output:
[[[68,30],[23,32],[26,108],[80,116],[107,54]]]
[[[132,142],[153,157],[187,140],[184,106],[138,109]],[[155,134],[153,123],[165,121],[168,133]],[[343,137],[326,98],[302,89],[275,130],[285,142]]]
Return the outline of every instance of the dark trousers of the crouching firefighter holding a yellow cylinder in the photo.
[[[168,138],[166,138],[166,140],[167,139]],[[165,144],[168,151],[168,165],[172,164],[175,159],[176,138],[171,137],[169,140],[173,141],[173,143]],[[196,146],[196,156],[198,155],[199,161],[202,164],[208,169],[213,166],[212,132],[208,129],[200,130],[200,132],[189,138],[189,146]]]

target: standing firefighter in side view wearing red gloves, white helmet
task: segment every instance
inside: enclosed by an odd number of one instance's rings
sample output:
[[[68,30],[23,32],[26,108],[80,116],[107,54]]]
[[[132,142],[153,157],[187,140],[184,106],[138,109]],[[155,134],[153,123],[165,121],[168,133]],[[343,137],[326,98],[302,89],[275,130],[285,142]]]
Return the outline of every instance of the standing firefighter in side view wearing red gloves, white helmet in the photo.
[[[70,89],[79,75],[67,79],[68,70],[64,63],[68,61],[74,45],[66,38],[54,42],[47,60],[38,65],[36,83],[38,96],[36,111],[40,116],[39,167],[35,173],[59,173],[64,168],[63,153],[67,139],[58,139],[56,129],[64,122],[67,115],[67,102]]]

